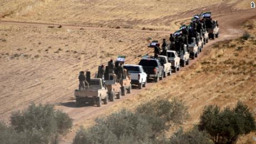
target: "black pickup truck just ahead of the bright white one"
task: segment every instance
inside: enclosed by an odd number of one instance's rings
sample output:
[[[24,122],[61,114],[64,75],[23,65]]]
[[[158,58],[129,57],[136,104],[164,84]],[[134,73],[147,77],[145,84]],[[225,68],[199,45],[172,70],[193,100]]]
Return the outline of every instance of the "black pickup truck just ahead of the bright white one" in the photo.
[[[155,82],[163,80],[164,68],[158,59],[143,58],[140,60],[139,65],[143,67],[147,78],[154,78]]]

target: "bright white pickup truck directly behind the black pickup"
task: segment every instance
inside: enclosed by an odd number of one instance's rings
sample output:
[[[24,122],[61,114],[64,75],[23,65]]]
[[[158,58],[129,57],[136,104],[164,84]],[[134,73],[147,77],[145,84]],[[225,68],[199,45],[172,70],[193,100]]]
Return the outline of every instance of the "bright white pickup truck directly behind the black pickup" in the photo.
[[[124,68],[127,69],[128,73],[130,73],[132,85],[138,85],[139,89],[146,87],[147,74],[144,72],[142,66],[125,64]]]

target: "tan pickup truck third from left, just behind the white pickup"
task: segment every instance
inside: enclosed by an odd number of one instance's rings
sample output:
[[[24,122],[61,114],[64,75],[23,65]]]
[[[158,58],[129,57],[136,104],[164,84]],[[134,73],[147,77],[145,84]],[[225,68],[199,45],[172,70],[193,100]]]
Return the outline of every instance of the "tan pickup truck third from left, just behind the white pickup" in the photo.
[[[119,80],[119,83],[122,96],[125,96],[125,90],[127,90],[127,93],[131,93],[131,77],[126,69],[124,69],[124,76]]]

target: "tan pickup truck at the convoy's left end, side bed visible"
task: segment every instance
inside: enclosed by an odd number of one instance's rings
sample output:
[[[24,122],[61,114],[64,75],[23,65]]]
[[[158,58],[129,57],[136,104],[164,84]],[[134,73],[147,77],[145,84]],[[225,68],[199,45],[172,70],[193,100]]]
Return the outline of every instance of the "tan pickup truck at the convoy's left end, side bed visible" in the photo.
[[[77,106],[85,105],[86,103],[96,104],[98,107],[101,106],[101,101],[107,104],[107,90],[103,86],[101,78],[92,78],[89,82],[88,89],[75,90],[76,104]]]

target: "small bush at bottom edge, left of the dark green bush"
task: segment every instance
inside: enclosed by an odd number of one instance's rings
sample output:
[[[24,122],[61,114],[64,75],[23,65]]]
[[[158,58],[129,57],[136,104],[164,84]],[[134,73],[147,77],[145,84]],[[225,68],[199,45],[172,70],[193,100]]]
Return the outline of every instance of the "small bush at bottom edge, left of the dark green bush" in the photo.
[[[174,133],[170,138],[172,144],[211,144],[213,141],[210,140],[208,133],[205,131],[199,131],[198,127],[194,127],[188,132],[183,132],[180,128],[179,131]]]

